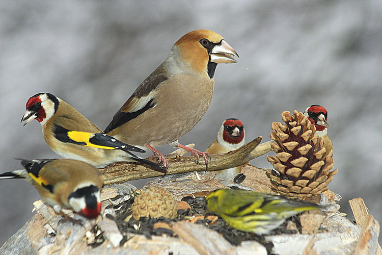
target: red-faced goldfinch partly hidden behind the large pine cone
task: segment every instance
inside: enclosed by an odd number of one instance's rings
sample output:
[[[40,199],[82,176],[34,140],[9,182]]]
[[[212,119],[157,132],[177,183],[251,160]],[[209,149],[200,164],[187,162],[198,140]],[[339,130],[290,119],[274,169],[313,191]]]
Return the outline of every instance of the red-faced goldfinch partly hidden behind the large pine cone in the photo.
[[[328,111],[323,106],[311,105],[304,111],[304,115],[316,126],[315,134],[322,138],[325,154],[328,154],[333,150],[333,143],[328,134]]]

